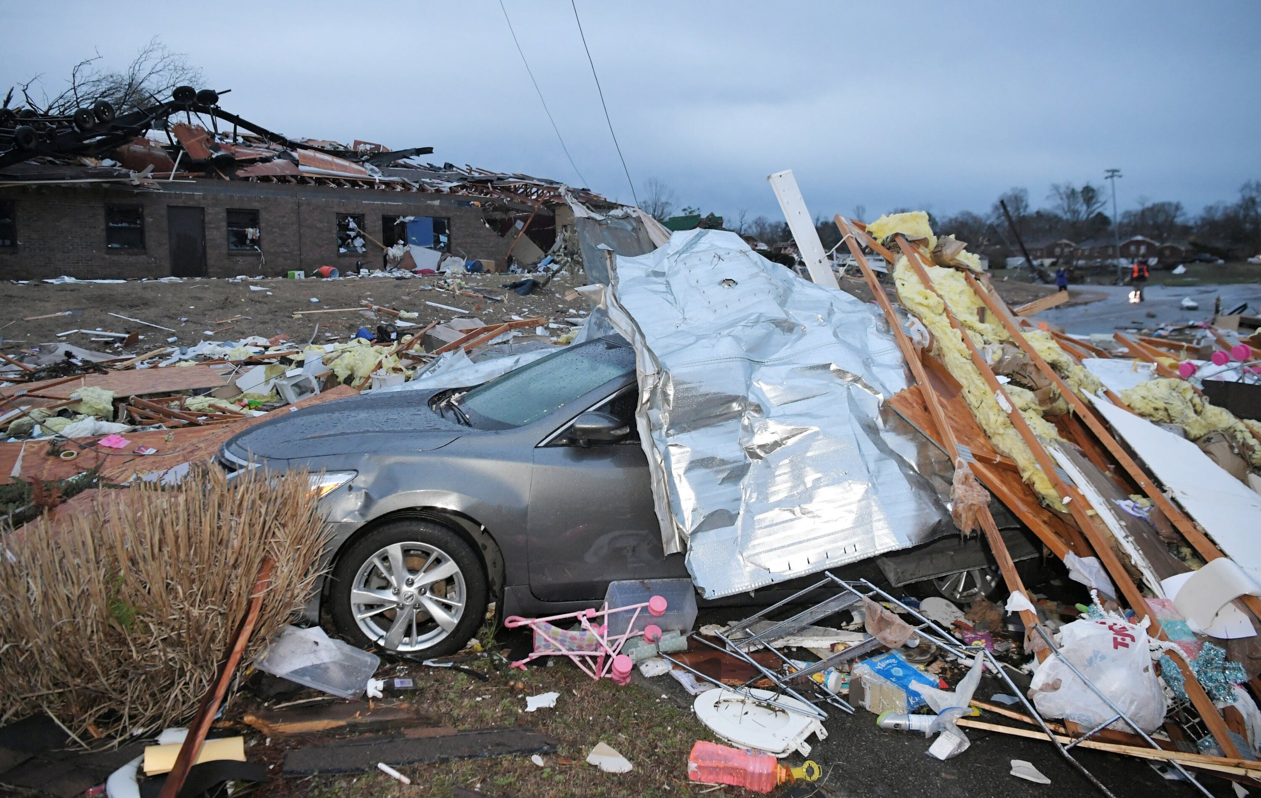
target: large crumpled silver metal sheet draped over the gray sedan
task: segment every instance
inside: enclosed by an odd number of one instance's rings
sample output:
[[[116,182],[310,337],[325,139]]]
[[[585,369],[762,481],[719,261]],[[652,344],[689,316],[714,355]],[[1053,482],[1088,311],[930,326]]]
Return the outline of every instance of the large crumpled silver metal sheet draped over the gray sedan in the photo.
[[[931,444],[880,420],[905,376],[868,305],[719,231],[619,257],[612,279],[604,299],[637,352],[665,550],[686,547],[707,598],[904,548],[947,523],[890,448]]]

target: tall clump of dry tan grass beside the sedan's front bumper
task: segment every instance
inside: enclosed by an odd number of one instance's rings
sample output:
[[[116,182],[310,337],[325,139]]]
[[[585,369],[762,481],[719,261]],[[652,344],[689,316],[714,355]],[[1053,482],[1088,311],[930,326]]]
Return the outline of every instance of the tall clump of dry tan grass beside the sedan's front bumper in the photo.
[[[23,532],[0,557],[0,722],[45,710],[81,739],[187,721],[264,557],[276,569],[247,658],[310,596],[325,541],[305,473],[213,468]]]

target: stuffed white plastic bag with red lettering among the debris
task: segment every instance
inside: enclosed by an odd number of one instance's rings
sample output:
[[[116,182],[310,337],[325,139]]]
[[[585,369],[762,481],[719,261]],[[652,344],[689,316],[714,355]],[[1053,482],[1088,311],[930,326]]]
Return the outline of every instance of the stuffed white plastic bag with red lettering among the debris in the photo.
[[[1061,653],[1038,666],[1029,687],[1038,712],[1093,729],[1116,715],[1061,662],[1077,666],[1144,731],[1154,731],[1165,717],[1165,696],[1156,677],[1148,633],[1120,619],[1074,620],[1061,628]],[[1124,721],[1110,726],[1130,731]]]

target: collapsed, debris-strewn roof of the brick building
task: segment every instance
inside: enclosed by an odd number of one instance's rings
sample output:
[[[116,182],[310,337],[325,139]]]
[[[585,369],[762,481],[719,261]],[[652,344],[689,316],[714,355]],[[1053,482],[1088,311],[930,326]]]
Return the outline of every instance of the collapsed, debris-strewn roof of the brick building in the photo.
[[[219,106],[213,90],[177,88],[171,98],[116,115],[96,102],[71,117],[33,108],[0,110],[0,185],[212,179],[371,188],[612,208],[586,189],[520,173],[451,163],[421,164],[430,146],[390,150],[354,140],[294,140]],[[221,125],[222,122],[222,125]],[[231,127],[228,125],[231,124]],[[163,141],[165,139],[165,141]]]

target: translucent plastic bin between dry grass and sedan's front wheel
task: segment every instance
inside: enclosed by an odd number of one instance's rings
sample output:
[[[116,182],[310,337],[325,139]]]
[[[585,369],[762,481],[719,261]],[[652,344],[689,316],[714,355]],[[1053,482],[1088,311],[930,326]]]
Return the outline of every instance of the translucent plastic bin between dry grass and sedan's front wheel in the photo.
[[[342,698],[361,696],[380,664],[376,654],[334,640],[319,627],[285,627],[253,662],[265,673]]]

